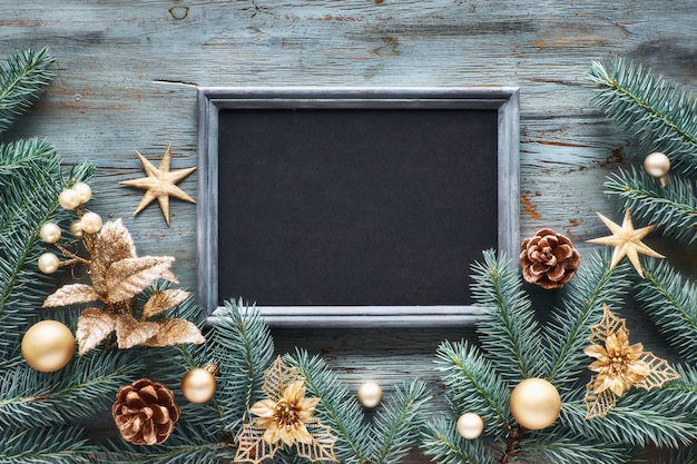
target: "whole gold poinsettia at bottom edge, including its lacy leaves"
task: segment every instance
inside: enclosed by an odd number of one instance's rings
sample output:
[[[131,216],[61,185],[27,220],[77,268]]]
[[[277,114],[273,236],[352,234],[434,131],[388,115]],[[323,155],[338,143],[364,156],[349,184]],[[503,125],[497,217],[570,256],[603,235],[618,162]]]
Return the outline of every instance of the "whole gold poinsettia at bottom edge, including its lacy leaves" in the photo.
[[[305,397],[305,379],[295,367],[277,357],[264,373],[262,389],[268,397],[249,409],[257,417],[242,428],[235,463],[258,464],[285,445],[295,445],[298,456],[310,462],[336,462],[336,437],[314,417],[320,399]]]

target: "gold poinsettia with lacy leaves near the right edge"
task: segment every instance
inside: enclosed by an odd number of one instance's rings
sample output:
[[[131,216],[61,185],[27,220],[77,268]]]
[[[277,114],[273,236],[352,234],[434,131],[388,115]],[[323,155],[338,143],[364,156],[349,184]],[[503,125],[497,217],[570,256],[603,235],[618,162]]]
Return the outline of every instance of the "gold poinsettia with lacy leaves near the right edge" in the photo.
[[[666,359],[645,352],[640,343],[630,345],[626,319],[602,307],[602,319],[590,328],[591,345],[583,349],[596,358],[588,368],[597,373],[586,386],[587,419],[605,417],[632,386],[649,391],[680,378]]]

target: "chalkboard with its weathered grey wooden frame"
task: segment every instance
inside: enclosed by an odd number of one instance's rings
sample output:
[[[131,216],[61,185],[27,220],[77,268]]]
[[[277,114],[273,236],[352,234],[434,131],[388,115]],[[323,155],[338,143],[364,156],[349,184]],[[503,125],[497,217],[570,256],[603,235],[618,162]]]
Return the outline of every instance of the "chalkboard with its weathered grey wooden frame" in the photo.
[[[242,298],[301,326],[471,319],[470,265],[514,253],[514,89],[206,89],[199,108],[210,309]]]

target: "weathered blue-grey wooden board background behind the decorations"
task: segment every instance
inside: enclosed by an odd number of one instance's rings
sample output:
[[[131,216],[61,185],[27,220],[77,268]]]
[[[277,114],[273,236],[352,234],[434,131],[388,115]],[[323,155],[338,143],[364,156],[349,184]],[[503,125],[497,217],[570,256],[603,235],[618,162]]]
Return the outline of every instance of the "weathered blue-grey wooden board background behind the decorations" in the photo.
[[[95,160],[90,206],[125,218],[140,255],[176,256],[189,288],[196,206],[173,199],[170,227],[156,204],[132,218],[143,191],[118,182],[143,177],[135,150],[159,161],[171,144],[173,169],[197,165],[197,86],[519,87],[521,237],[551,227],[581,253],[607,233],[596,211],[621,219],[606,175],[646,155],[590,105],[591,60],[628,57],[697,88],[694,0],[0,0],[0,58],[43,46],[57,58],[53,83],[6,139],[47,137],[67,162]],[[195,196],[196,176],[179,186]],[[284,330],[276,342],[322,353],[356,387],[422,377],[438,394],[439,340],[471,336]]]

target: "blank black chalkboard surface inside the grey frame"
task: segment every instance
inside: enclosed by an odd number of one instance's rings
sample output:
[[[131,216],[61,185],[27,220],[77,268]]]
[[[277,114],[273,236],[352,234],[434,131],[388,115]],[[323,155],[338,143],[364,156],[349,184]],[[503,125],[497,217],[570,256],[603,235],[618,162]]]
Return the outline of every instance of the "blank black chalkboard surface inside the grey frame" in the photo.
[[[218,299],[462,305],[497,247],[498,112],[224,110]]]

